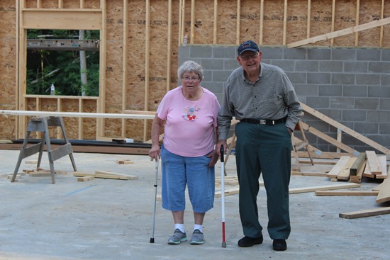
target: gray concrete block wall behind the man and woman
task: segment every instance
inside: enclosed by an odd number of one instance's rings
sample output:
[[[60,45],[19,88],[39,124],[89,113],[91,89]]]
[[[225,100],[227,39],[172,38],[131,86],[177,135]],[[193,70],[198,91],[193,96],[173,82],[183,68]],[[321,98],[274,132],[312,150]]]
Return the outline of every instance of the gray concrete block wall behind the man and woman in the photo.
[[[390,50],[371,48],[261,47],[262,62],[284,69],[301,102],[342,125],[390,149]],[[194,60],[204,67],[202,86],[222,103],[223,84],[239,66],[237,46],[187,45],[179,47],[179,64]],[[337,137],[337,129],[311,115],[303,122]],[[306,133],[311,145],[323,152],[337,147]],[[341,142],[364,152],[373,149],[342,133]],[[380,153],[376,151],[377,153]]]

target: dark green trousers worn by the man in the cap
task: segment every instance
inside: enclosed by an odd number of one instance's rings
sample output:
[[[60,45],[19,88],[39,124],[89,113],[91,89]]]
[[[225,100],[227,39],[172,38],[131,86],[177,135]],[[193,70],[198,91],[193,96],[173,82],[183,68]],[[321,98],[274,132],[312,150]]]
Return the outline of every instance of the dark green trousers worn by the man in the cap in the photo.
[[[284,123],[255,125],[238,123],[235,157],[240,183],[239,208],[244,235],[260,237],[257,194],[262,174],[267,192],[268,225],[271,239],[287,239],[289,217],[289,183],[291,176],[291,135]]]

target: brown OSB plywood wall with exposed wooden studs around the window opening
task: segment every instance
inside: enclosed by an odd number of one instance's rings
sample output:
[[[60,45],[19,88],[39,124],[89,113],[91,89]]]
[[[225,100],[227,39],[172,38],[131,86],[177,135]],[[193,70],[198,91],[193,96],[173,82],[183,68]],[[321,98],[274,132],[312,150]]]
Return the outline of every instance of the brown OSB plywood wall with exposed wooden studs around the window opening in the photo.
[[[0,109],[20,109],[17,19],[19,0],[0,1]],[[184,34],[189,44],[238,45],[252,39],[261,45],[288,45],[316,35],[378,21],[390,16],[384,0],[21,0],[24,9],[94,9],[104,27],[104,68],[99,102],[26,98],[28,110],[122,113],[155,111],[167,90],[177,86],[177,51]],[[169,11],[171,7],[172,12]],[[27,29],[27,28],[24,28]],[[124,39],[126,38],[126,39]],[[169,46],[168,46],[169,45]],[[382,26],[313,45],[390,47],[390,26]],[[126,53],[123,52],[126,50]],[[22,82],[23,83],[23,82]],[[59,104],[60,103],[60,108]],[[98,106],[100,104],[100,106]],[[26,124],[27,120],[25,120]],[[106,119],[104,137],[147,140],[150,121]],[[65,118],[70,139],[94,140],[99,121]],[[20,138],[16,117],[0,118],[0,139]]]

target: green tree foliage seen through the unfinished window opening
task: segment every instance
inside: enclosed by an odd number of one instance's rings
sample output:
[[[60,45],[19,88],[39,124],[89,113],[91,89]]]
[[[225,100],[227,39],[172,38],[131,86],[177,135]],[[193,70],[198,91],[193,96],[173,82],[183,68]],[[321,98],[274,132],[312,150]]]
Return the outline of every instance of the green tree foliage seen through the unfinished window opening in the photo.
[[[28,30],[28,39],[78,39],[78,30]],[[88,31],[86,40],[99,39],[99,31]],[[79,51],[28,50],[27,94],[49,95],[51,84],[55,94],[99,96],[99,52],[86,52],[87,86],[80,79]]]

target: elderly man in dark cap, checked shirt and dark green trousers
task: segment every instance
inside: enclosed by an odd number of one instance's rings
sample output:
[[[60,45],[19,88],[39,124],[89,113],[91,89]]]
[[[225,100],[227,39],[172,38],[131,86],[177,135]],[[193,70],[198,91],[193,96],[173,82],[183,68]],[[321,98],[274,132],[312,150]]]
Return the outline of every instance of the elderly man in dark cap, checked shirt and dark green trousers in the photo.
[[[257,210],[259,178],[267,191],[267,230],[273,249],[287,249],[289,219],[289,181],[291,175],[291,132],[302,113],[291,81],[279,67],[262,63],[262,52],[247,40],[238,47],[238,63],[225,82],[223,106],[218,113],[219,140],[226,147],[233,117],[235,157],[240,183],[240,220],[245,237],[240,247],[262,244],[262,225]]]

